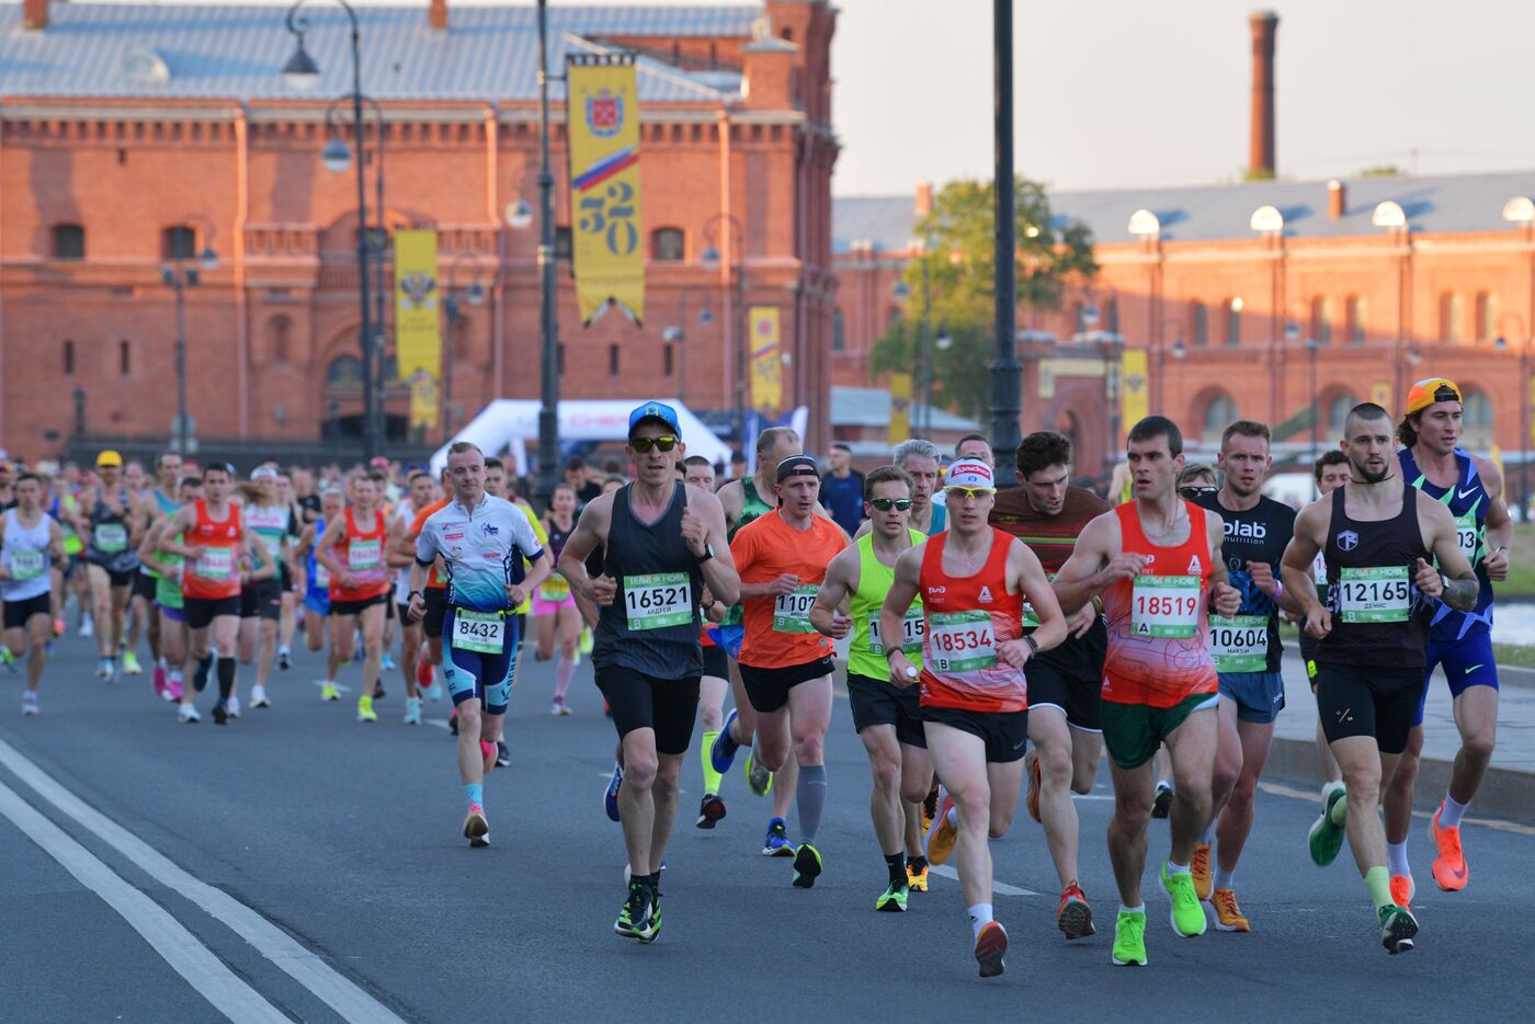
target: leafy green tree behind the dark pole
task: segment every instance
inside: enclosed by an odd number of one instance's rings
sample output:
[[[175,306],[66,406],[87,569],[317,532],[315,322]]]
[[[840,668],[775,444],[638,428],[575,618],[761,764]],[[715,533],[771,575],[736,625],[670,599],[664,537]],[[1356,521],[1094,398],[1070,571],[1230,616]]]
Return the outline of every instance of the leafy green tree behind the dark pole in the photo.
[[[1018,178],[1018,304],[1056,309],[1067,281],[1098,273],[1093,239],[1079,221],[1058,224],[1044,186]],[[912,316],[895,324],[869,353],[870,375],[921,367],[923,264],[927,264],[933,336],[947,333],[953,344],[933,352],[933,405],[985,421],[990,405],[990,362],[995,352],[995,224],[992,184],[950,181],[933,197],[933,209],[916,224],[924,252],[907,264]]]

